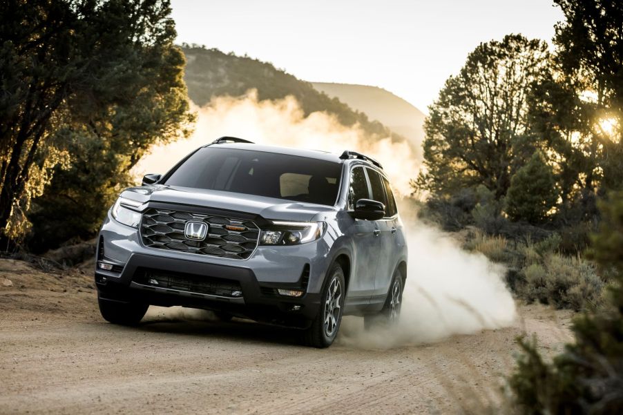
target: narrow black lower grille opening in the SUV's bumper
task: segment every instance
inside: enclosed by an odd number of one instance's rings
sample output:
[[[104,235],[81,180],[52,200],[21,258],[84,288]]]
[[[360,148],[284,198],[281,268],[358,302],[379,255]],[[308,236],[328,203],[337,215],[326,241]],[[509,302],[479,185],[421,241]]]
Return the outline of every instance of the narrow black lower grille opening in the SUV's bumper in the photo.
[[[209,276],[138,269],[133,278],[138,284],[149,287],[174,289],[189,293],[209,294],[211,296],[241,298],[240,282]]]

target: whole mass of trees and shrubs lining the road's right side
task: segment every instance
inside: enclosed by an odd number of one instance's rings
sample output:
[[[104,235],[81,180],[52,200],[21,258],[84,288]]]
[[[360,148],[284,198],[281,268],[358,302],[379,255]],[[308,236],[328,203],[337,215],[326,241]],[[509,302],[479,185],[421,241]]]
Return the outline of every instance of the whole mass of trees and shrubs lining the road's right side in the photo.
[[[623,3],[555,0],[553,51],[478,46],[425,122],[419,214],[506,265],[525,302],[582,311],[552,361],[536,339],[509,384],[525,414],[623,412]]]

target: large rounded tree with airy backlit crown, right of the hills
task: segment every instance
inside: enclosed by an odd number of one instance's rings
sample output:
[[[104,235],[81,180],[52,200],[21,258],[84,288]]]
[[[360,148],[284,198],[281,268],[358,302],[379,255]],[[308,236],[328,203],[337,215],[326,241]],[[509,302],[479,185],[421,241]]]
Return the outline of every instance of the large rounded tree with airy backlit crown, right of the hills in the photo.
[[[548,72],[543,41],[508,35],[480,44],[445,82],[425,122],[425,170],[418,184],[438,194],[483,184],[499,199],[538,147],[528,90]]]

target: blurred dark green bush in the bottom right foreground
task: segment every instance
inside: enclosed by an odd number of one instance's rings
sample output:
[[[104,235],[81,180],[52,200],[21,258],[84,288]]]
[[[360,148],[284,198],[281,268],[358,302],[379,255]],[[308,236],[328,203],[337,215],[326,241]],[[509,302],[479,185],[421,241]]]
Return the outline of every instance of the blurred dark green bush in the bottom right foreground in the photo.
[[[525,414],[623,413],[623,193],[600,205],[591,256],[611,273],[610,307],[576,318],[575,343],[550,364],[535,342],[520,342],[510,386]]]

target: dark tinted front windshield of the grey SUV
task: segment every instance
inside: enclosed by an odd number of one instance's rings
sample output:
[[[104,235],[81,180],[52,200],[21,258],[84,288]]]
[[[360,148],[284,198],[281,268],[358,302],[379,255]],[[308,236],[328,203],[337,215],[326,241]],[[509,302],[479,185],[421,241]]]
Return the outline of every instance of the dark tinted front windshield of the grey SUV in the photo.
[[[333,206],[342,165],[296,155],[203,147],[164,184]]]

